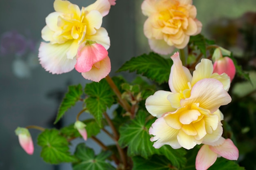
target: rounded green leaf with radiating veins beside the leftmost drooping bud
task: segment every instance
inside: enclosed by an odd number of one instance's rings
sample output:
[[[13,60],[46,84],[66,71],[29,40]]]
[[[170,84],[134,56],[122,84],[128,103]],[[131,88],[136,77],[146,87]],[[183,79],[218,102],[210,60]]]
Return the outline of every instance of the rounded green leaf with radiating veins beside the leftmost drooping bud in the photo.
[[[47,163],[58,164],[74,162],[77,159],[70,155],[67,139],[56,129],[46,129],[38,136],[38,145],[42,146],[41,157]]]

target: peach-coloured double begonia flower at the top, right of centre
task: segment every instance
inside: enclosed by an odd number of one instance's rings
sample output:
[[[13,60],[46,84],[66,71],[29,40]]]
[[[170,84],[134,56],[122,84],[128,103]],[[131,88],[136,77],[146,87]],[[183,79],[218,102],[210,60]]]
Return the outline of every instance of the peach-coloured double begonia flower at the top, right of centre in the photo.
[[[192,0],[144,0],[141,9],[148,17],[144,34],[156,53],[166,55],[175,48],[183,49],[191,35],[201,32]]]

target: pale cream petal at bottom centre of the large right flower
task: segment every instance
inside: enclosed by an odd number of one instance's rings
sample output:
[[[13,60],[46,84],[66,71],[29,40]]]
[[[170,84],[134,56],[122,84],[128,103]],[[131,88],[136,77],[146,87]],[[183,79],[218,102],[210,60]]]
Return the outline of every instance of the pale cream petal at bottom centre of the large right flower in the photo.
[[[197,141],[194,136],[187,135],[183,130],[179,131],[177,139],[180,146],[185,149],[192,149],[196,144],[200,144],[200,141]]]

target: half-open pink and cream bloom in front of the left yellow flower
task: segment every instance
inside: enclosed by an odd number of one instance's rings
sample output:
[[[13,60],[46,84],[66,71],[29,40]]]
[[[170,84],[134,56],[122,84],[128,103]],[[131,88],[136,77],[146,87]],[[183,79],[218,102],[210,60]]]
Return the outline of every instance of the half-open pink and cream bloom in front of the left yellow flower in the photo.
[[[101,44],[82,43],[77,50],[76,71],[82,73],[85,79],[99,82],[111,70],[108,51]]]

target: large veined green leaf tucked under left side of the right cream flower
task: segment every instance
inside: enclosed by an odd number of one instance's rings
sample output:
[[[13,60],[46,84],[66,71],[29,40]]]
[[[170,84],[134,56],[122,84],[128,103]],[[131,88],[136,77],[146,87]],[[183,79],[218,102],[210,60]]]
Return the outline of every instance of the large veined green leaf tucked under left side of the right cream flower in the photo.
[[[137,113],[137,117],[120,127],[120,138],[118,143],[122,148],[128,146],[128,155],[140,155],[148,159],[153,154],[164,155],[177,168],[181,168],[186,163],[184,149],[175,150],[170,146],[162,146],[160,149],[155,149],[150,141],[148,129],[153,121],[146,123],[146,114],[143,111]]]

